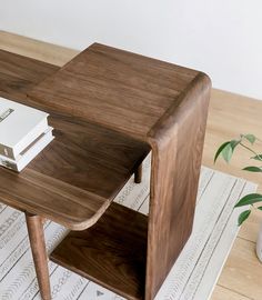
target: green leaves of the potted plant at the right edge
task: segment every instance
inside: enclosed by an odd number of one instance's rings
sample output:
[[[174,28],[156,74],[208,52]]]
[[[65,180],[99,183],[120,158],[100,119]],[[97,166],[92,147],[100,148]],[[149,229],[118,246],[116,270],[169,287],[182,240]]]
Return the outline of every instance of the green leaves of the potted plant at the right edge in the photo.
[[[256,141],[260,141],[254,134],[240,134],[239,139],[226,141],[222,143],[215,156],[214,156],[214,163],[216,159],[222,156],[222,158],[229,163],[235,149],[238,147],[244,148],[248,150],[250,153],[252,153],[252,157],[250,159],[252,162],[255,164],[261,163],[262,164],[262,153],[256,153],[252,148]],[[246,144],[248,143],[248,144]],[[243,168],[243,170],[249,171],[249,172],[261,172],[262,173],[262,166],[248,166]],[[254,206],[255,203],[262,202],[262,194],[260,193],[250,193],[241,198],[238,203],[234,206],[235,208],[238,207],[244,207],[244,206],[250,206],[252,209],[258,209],[262,210],[262,206]],[[239,226],[241,226],[249,217],[251,213],[251,209],[248,209],[240,213],[239,216]]]

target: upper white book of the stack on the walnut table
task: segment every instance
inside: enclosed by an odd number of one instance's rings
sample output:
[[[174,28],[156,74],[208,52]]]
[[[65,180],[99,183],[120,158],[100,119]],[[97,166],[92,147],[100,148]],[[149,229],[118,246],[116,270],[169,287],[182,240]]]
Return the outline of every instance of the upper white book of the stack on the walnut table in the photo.
[[[48,129],[48,113],[0,97],[0,154],[18,156]]]

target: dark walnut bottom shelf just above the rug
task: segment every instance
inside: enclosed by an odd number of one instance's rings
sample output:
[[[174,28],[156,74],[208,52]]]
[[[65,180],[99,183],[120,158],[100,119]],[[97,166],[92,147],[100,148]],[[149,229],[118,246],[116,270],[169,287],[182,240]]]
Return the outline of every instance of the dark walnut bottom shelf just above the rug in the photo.
[[[112,203],[84,231],[71,231],[50,259],[128,299],[144,298],[148,218]]]

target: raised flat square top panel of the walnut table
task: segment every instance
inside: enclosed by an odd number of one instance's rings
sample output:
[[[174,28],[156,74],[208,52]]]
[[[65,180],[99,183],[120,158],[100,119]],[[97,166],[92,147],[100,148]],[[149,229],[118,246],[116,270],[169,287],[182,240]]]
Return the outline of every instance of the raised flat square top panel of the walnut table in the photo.
[[[196,74],[94,43],[32,89],[30,98],[144,139]]]

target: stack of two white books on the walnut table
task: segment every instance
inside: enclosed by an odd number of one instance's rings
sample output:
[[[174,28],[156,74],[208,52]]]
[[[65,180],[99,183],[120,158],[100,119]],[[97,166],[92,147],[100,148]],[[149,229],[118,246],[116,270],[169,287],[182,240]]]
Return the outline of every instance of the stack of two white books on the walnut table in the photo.
[[[0,166],[20,172],[53,140],[48,116],[0,97]]]

